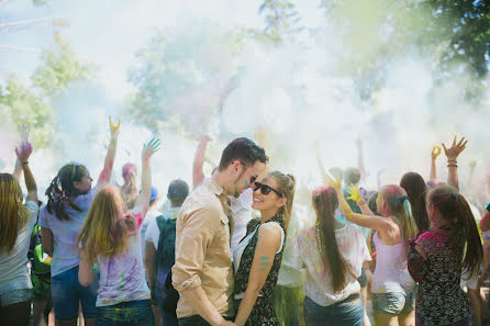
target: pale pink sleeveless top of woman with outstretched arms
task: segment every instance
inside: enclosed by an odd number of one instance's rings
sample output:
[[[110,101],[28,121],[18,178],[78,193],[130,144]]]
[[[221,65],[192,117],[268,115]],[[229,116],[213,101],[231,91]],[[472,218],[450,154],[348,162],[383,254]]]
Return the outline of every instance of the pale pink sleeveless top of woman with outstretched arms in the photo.
[[[404,241],[397,245],[387,245],[376,232],[376,269],[372,276],[372,293],[404,292],[400,285],[400,276],[407,262]]]

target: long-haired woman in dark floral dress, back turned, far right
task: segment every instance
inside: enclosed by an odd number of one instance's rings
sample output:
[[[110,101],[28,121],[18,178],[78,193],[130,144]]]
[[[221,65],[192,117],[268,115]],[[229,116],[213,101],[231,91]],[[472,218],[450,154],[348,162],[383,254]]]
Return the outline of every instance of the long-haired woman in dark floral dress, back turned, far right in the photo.
[[[482,261],[475,217],[450,186],[428,192],[427,214],[432,231],[410,240],[408,256],[410,274],[419,282],[416,325],[469,325],[469,304],[459,283],[461,270],[478,273]]]

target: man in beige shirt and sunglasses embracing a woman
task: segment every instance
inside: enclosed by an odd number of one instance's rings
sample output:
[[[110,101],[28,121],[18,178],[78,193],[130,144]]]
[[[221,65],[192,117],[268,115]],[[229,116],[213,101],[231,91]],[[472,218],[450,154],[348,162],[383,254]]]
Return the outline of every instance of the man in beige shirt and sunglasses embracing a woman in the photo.
[[[223,150],[218,171],[196,189],[180,209],[176,225],[172,284],[180,294],[180,326],[234,325],[230,239],[233,216],[227,195],[237,198],[260,176],[268,158],[248,138]]]

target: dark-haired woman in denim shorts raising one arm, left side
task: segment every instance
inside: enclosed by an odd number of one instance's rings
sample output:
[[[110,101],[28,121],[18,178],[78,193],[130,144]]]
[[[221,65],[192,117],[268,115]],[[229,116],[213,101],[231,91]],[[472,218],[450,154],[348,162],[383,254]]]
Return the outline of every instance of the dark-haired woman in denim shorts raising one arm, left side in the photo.
[[[46,190],[48,202],[40,211],[43,249],[53,257],[51,295],[56,324],[59,325],[77,325],[79,302],[86,325],[94,325],[98,283],[92,282],[83,288],[78,282],[76,241],[93,198],[99,189],[109,184],[111,178],[120,123],[113,124],[109,119],[109,125],[111,143],[97,186],[91,187],[92,178],[82,165],[65,165]]]

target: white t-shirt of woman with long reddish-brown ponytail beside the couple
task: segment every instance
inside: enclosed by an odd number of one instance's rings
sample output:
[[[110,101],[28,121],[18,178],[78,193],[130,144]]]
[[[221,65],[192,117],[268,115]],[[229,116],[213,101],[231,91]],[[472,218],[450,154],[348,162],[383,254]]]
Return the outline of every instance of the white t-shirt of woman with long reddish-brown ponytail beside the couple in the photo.
[[[338,250],[347,263],[346,278],[347,285],[338,293],[332,286],[332,272],[320,254],[320,238],[316,227],[304,228],[300,232],[297,243],[296,268],[307,268],[307,276],[303,284],[304,294],[321,306],[328,306],[347,299],[350,294],[360,291],[357,278],[364,261],[370,261],[369,250],[363,237],[363,233],[357,225],[345,224],[342,228],[335,229],[335,239]],[[353,276],[354,273],[354,276]]]

